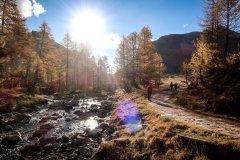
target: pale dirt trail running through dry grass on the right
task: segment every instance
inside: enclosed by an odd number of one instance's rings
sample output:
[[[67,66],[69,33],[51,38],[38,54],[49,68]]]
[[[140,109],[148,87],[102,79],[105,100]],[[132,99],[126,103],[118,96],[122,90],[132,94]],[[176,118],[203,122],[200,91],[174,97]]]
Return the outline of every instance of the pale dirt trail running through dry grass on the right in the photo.
[[[207,115],[195,113],[189,109],[167,103],[171,92],[164,91],[152,96],[153,106],[157,107],[162,116],[170,117],[190,125],[217,131],[222,134],[240,138],[240,123],[223,118],[209,117]]]

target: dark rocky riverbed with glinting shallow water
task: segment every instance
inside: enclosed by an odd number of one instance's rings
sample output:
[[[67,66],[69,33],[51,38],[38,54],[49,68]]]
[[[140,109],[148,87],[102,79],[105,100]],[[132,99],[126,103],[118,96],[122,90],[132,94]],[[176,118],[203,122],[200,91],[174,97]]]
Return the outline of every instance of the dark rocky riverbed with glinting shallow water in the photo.
[[[111,138],[111,97],[45,98],[44,105],[0,114],[0,159],[90,159]]]

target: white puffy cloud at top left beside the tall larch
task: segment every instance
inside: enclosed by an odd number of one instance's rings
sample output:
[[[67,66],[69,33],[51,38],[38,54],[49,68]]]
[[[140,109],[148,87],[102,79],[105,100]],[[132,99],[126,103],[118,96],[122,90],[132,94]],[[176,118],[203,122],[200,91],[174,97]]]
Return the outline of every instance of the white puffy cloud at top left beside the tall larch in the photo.
[[[40,14],[46,12],[44,7],[36,0],[17,0],[17,6],[20,14],[25,18],[33,15],[38,17]]]

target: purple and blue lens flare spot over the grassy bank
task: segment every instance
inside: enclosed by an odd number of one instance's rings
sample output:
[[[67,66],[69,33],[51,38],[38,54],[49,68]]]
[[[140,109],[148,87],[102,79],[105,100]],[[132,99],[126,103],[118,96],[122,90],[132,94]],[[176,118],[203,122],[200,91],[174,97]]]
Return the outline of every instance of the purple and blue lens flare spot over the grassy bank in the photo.
[[[116,114],[129,134],[134,134],[142,129],[142,120],[137,105],[132,100],[121,101],[117,105]]]

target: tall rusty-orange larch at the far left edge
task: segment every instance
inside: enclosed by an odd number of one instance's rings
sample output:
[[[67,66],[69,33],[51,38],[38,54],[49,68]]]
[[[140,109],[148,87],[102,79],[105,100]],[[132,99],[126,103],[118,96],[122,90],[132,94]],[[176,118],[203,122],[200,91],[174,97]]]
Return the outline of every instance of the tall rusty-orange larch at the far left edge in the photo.
[[[16,1],[0,1],[0,70],[6,81],[24,85],[24,60],[31,54],[31,37],[20,15]],[[15,83],[16,82],[16,83]]]

